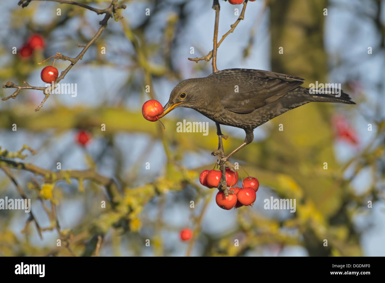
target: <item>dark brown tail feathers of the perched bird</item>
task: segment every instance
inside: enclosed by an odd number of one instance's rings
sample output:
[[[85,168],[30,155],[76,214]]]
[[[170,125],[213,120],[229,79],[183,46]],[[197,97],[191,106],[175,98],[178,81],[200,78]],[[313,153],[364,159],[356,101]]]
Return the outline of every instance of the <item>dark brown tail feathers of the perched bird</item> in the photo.
[[[334,89],[334,91],[329,91],[323,89],[308,89],[306,87],[300,88],[303,92],[306,92],[311,97],[310,101],[355,104],[355,102],[352,101],[352,98],[341,89]]]

